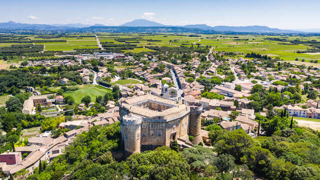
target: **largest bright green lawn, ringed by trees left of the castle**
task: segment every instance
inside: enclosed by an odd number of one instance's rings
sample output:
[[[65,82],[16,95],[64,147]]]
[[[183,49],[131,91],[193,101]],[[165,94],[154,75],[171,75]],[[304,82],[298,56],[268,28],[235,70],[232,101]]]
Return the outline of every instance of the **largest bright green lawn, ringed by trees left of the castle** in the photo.
[[[99,85],[86,84],[80,85],[79,89],[74,91],[66,91],[63,95],[71,95],[76,103],[81,103],[82,97],[89,95],[91,101],[95,101],[95,96],[104,95],[106,92],[111,92],[111,89],[101,87]]]

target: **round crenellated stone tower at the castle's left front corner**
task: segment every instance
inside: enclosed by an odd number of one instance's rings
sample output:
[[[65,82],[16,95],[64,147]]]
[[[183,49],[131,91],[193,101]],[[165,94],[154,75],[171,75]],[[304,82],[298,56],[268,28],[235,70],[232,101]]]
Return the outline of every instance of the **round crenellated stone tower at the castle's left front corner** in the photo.
[[[126,114],[122,117],[120,130],[124,142],[124,150],[126,155],[140,152],[140,132],[141,132],[141,117],[134,114]]]

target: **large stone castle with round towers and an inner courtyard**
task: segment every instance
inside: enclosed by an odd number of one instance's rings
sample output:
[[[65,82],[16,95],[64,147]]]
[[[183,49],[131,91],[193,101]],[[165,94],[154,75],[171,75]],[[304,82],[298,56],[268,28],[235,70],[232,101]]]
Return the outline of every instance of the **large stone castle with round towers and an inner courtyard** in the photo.
[[[120,130],[126,154],[169,146],[173,140],[193,144],[200,135],[202,106],[146,94],[119,100]]]

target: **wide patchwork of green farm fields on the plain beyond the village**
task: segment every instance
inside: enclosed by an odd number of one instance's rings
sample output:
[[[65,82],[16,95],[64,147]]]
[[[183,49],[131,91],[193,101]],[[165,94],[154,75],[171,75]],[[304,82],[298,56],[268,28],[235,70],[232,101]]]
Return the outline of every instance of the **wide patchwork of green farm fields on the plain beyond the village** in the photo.
[[[200,46],[213,47],[216,51],[239,52],[239,56],[245,53],[266,54],[271,57],[279,57],[283,60],[294,60],[298,58],[305,62],[310,60],[320,60],[320,52],[297,53],[296,51],[312,49],[311,44],[290,43],[293,40],[302,41],[320,41],[318,36],[280,36],[280,35],[226,35],[226,34],[151,34],[151,33],[97,33],[101,45],[105,49],[117,48],[123,53],[126,52],[144,52],[153,51],[148,46]],[[94,34],[61,34],[61,35],[12,35],[12,39],[23,37],[30,43],[43,44],[44,50],[74,50],[76,48],[98,48]],[[41,40],[48,42],[32,42],[32,40]],[[51,42],[49,40],[58,40]],[[285,40],[285,41],[283,41]],[[28,42],[25,42],[28,43]],[[3,42],[0,47],[10,46],[11,44],[23,44],[16,42]],[[297,62],[299,63],[299,62]],[[315,65],[312,63],[311,65]]]

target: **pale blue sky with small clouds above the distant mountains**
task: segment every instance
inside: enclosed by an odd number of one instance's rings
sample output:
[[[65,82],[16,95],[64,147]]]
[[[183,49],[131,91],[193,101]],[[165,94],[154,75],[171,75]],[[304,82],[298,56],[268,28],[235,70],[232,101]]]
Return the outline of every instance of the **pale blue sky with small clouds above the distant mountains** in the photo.
[[[137,18],[163,24],[320,28],[320,0],[1,0],[0,22],[101,23]]]

